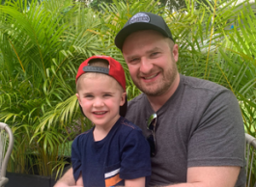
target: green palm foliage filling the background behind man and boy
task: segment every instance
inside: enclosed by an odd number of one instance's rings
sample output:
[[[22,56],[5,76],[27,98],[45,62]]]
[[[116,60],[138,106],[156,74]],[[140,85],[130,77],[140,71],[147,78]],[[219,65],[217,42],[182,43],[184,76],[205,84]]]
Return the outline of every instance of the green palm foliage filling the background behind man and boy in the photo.
[[[255,2],[176,3],[173,8],[175,3],[155,0],[2,1],[0,121],[14,132],[10,172],[60,174],[68,163],[71,140],[92,126],[75,97],[76,70],[85,59],[117,59],[126,71],[128,99],[140,94],[114,45],[118,31],[138,12],[164,17],[180,47],[179,71],[236,94],[244,129],[255,136]]]

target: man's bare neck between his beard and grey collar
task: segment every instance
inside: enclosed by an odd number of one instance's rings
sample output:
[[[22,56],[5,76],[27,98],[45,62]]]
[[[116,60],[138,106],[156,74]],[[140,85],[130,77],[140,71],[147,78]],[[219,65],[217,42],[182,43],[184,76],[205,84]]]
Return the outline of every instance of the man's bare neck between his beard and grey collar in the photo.
[[[147,95],[149,102],[155,112],[159,110],[164,105],[164,103],[175,93],[175,91],[178,89],[179,84],[180,74],[177,73],[177,77],[174,80],[172,86],[164,94],[160,94],[157,96]]]

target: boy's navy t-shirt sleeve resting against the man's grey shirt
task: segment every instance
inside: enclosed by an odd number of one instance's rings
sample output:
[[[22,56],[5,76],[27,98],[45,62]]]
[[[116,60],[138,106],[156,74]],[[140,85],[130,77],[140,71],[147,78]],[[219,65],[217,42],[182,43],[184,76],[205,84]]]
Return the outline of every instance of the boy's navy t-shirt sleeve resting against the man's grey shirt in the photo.
[[[134,179],[151,175],[150,147],[141,130],[131,130],[121,151],[121,178]]]

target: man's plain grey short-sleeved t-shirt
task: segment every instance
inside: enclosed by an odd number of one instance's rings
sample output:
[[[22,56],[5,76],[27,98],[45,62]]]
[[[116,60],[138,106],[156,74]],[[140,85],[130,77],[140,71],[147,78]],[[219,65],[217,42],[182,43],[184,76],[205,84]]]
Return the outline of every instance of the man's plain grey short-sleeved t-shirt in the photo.
[[[244,128],[236,96],[213,82],[181,75],[177,91],[156,112],[151,185],[186,182],[189,167],[240,166],[244,186]],[[145,94],[128,102],[126,118],[148,137],[154,110]]]

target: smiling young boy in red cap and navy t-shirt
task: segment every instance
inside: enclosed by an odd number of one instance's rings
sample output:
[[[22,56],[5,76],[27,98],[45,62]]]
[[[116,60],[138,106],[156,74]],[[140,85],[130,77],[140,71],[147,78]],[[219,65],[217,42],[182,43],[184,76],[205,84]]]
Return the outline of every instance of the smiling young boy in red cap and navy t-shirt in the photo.
[[[144,187],[151,175],[150,147],[142,131],[126,120],[126,77],[106,56],[83,62],[76,75],[82,113],[95,126],[75,138],[71,162],[76,186]]]

